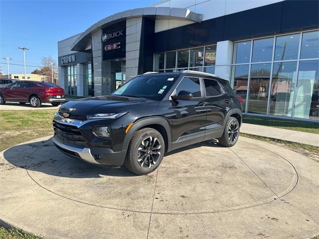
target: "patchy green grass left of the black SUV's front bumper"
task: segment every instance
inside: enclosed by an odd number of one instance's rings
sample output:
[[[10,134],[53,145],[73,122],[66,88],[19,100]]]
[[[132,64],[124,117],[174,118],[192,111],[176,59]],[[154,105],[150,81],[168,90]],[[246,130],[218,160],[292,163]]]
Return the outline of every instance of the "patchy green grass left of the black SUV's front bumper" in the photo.
[[[0,151],[18,143],[53,134],[52,118],[56,111],[1,111]]]

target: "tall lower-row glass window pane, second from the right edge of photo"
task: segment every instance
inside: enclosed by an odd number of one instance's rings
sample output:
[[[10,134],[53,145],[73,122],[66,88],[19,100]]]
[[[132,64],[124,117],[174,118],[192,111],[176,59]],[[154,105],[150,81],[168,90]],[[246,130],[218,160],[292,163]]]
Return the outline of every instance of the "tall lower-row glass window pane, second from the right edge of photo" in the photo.
[[[270,115],[292,116],[297,62],[274,63]]]

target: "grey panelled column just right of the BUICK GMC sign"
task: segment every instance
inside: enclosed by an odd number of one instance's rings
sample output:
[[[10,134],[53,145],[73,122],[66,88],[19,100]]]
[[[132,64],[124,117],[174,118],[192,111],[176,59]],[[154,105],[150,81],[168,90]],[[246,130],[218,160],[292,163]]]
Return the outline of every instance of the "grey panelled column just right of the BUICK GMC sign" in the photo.
[[[142,17],[126,20],[126,81],[138,75]]]

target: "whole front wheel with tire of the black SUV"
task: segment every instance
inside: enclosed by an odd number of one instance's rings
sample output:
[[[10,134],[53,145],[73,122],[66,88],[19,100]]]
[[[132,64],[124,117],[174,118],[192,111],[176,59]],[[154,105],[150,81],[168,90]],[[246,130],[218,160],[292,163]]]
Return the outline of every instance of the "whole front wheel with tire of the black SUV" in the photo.
[[[145,175],[159,167],[164,152],[165,143],[160,132],[154,128],[143,128],[133,135],[124,165],[135,174]]]

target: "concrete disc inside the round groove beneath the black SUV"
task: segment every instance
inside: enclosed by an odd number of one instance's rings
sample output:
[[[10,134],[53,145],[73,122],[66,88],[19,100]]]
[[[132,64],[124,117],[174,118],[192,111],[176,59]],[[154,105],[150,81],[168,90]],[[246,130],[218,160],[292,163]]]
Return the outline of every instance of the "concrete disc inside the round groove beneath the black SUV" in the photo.
[[[77,202],[119,210],[150,213],[153,205],[153,213],[164,214],[228,211],[275,200],[297,183],[287,160],[241,141],[234,148],[204,142],[171,152],[158,171],[145,176],[70,158],[51,142],[33,146],[25,168],[38,185]]]

